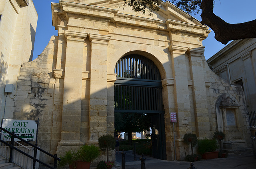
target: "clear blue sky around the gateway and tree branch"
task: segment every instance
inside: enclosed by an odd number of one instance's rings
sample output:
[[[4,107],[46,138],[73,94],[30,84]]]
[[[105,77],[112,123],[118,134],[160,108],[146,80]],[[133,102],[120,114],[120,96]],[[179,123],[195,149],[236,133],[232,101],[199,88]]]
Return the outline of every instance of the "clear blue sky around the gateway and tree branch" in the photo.
[[[36,28],[36,39],[34,44],[33,60],[44,50],[50,37],[58,32],[52,26],[51,2],[58,3],[59,0],[33,0],[38,13],[38,23]],[[242,2],[242,3],[241,3]],[[230,24],[248,22],[256,19],[256,0],[215,0],[214,13]],[[201,20],[200,15],[192,15]],[[212,55],[220,51],[225,45],[214,39],[214,32],[203,41],[205,46],[204,55],[209,59]]]

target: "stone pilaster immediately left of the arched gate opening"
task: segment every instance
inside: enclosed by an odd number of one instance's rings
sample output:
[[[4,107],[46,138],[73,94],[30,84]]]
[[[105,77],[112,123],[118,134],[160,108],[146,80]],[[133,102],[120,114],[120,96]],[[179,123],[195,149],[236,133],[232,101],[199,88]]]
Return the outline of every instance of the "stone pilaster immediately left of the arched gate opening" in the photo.
[[[90,70],[90,142],[97,143],[98,137],[107,134],[108,105],[108,41],[110,36],[89,34],[91,41]]]

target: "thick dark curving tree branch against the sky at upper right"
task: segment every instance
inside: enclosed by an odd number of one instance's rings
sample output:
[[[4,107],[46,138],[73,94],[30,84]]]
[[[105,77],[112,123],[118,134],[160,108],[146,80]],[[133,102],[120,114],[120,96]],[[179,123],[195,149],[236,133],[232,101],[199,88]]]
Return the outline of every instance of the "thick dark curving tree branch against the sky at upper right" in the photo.
[[[256,20],[241,24],[228,24],[213,13],[213,0],[202,0],[201,7],[201,23],[214,31],[217,41],[227,44],[230,40],[256,38]]]

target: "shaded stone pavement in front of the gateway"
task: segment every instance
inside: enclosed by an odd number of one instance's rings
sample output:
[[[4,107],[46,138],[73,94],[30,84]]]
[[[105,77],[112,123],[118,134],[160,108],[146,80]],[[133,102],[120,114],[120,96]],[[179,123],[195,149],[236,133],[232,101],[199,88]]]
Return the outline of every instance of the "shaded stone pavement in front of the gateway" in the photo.
[[[125,169],[141,169],[141,164],[137,156],[137,160],[134,161],[134,154],[132,151],[125,151],[126,167]],[[167,161],[154,159],[152,157],[144,156],[146,169],[188,169],[190,167],[190,162],[188,161]],[[116,165],[112,169],[122,169],[122,154],[116,154]],[[217,159],[201,159],[200,161],[195,161],[194,167],[196,169],[256,169],[256,159],[252,154],[247,155],[233,155],[227,158],[217,158]]]

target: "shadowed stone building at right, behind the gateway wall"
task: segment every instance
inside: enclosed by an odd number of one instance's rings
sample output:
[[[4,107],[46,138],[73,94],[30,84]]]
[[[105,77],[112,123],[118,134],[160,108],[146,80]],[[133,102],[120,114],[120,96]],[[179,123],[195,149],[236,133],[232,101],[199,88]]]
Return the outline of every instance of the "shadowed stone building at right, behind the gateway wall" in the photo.
[[[256,39],[232,41],[207,60],[214,73],[228,83],[243,86],[248,111],[256,105]]]

